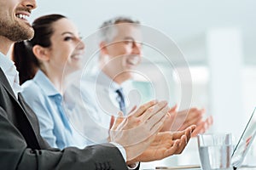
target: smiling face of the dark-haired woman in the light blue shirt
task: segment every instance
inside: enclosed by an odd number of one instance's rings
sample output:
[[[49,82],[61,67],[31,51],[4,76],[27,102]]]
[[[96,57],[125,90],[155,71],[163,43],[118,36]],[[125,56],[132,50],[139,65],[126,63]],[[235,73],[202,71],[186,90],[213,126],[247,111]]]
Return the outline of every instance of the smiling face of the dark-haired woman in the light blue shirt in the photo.
[[[69,74],[77,71],[84,54],[84,42],[80,40],[79,31],[66,18],[55,21],[52,28],[51,46],[46,49],[48,57],[43,61],[46,72],[62,74],[65,69]]]

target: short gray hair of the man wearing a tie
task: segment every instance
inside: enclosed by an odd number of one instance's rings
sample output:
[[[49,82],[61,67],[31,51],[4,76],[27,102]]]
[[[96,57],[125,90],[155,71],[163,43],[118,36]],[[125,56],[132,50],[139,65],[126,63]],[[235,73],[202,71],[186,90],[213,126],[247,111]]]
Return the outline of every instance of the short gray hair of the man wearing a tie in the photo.
[[[114,25],[121,23],[131,23],[131,24],[140,24],[138,20],[132,20],[130,17],[118,16],[113,19],[106,20],[103,22],[102,26],[100,26],[101,31],[101,41],[111,42],[113,37],[117,34],[117,29]]]

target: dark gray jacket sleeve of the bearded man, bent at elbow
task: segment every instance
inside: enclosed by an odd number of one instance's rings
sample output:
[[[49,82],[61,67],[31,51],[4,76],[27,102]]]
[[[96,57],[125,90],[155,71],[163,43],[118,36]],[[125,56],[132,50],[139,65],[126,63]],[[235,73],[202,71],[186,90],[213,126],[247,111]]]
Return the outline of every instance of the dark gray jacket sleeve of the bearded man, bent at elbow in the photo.
[[[6,118],[0,108],[0,167],[18,170],[79,170],[117,169],[126,170],[119,150],[112,144],[97,144],[79,150],[32,150],[18,129]]]

